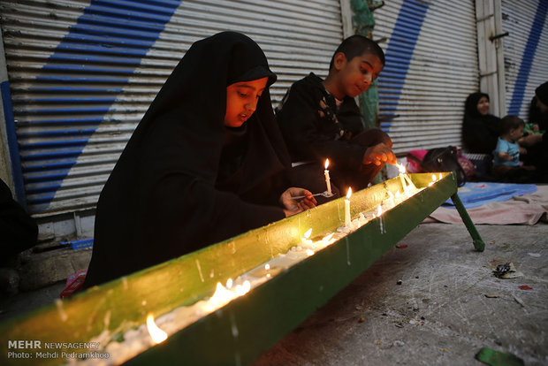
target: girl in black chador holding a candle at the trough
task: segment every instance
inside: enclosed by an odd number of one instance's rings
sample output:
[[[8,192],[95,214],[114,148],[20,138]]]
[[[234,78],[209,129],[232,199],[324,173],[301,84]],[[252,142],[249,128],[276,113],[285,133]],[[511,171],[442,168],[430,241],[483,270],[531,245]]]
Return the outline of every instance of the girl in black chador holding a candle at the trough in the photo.
[[[192,45],[103,188],[84,287],[316,205],[310,192],[289,187],[268,89],[275,80],[263,50],[243,34]]]

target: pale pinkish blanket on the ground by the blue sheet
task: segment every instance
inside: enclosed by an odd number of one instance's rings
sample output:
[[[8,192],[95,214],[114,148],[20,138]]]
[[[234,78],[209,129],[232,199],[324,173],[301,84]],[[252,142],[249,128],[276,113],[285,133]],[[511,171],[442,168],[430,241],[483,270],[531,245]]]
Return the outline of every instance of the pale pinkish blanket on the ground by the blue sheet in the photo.
[[[465,206],[467,206],[466,203]],[[474,224],[535,225],[541,218],[543,220],[546,218],[548,186],[537,186],[535,193],[513,195],[504,202],[490,202],[474,208],[469,208],[468,205],[467,211]],[[441,206],[424,220],[424,223],[428,222],[462,224],[462,219],[454,207]]]

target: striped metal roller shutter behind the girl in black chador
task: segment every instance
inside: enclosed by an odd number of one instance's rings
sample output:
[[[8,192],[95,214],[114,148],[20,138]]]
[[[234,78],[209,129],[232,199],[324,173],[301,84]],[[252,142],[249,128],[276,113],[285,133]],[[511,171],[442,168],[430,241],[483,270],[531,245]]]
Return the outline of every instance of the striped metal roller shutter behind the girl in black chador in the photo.
[[[252,37],[278,82],[325,76],[343,38],[339,0],[3,0],[20,171],[34,217],[95,207],[118,156],[192,42]]]

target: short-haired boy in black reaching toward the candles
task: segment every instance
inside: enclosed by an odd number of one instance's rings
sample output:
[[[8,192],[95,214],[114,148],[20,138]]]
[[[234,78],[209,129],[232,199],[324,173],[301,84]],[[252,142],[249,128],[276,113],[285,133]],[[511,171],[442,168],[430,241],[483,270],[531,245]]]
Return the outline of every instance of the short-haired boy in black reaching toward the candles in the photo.
[[[378,129],[364,131],[354,101],[383,67],[383,50],[356,34],[339,45],[325,80],[310,72],[287,91],[276,117],[293,164],[305,163],[295,168],[302,176],[323,174],[329,158],[331,178],[344,194],[349,186],[367,187],[384,163],[396,163],[390,137]]]

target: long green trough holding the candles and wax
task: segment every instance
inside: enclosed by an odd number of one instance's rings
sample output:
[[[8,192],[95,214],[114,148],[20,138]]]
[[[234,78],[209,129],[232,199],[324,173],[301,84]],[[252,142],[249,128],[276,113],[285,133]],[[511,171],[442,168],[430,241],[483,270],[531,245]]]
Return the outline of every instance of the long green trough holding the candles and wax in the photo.
[[[427,186],[430,177],[430,174],[412,175],[417,187]],[[387,190],[401,191],[400,179],[390,179],[355,193],[353,217],[359,212],[374,210],[387,197]],[[453,174],[444,173],[444,179],[384,213],[382,218],[283,271],[131,362],[148,363],[155,358],[179,362],[181,357],[189,360],[187,364],[253,361],[455,193]],[[57,305],[51,304],[0,324],[0,353],[5,356],[9,351],[17,351],[8,349],[9,340],[74,342],[88,341],[103,331],[125,332],[142,324],[148,312],[162,315],[209,297],[217,282],[225,283],[226,279],[236,278],[287,252],[301,243],[302,234],[309,228],[315,235],[323,235],[341,225],[344,225],[343,198],[91,288],[69,301],[58,301]],[[205,352],[211,349],[208,347],[216,351]],[[36,362],[6,361],[19,365]],[[57,364],[58,360],[41,360],[41,363]]]

